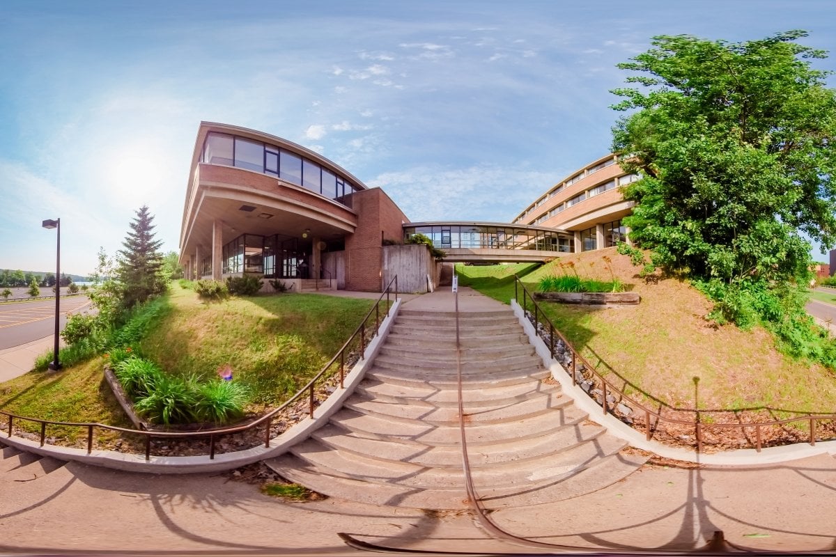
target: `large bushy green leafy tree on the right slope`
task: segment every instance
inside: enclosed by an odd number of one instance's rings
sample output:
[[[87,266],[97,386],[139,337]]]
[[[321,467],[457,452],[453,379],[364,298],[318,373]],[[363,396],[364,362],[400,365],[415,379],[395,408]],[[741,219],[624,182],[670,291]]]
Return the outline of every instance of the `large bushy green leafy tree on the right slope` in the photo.
[[[836,243],[836,93],[811,65],[825,54],[794,42],[806,36],[655,37],[619,64],[646,89],[614,90],[624,97],[614,109],[635,110],[613,141],[622,168],[641,176],[623,190],[636,203],[630,238],[691,276],[721,321],[790,323],[787,334],[806,327],[805,235]]]

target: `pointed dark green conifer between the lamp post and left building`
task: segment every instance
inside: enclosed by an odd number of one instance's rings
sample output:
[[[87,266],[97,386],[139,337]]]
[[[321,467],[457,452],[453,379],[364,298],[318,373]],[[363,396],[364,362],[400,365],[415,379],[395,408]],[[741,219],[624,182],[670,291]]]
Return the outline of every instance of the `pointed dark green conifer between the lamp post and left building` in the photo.
[[[122,242],[125,249],[119,251],[122,301],[128,308],[166,291],[167,281],[161,275],[162,256],[159,251],[162,241],[154,239],[153,220],[148,205],[142,205]]]

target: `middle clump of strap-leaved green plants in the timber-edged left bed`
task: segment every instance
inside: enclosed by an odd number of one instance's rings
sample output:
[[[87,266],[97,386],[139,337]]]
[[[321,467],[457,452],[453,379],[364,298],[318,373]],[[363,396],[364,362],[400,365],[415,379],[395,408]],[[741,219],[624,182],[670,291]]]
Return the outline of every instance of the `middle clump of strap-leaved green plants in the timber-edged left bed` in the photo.
[[[151,422],[170,425],[194,422],[197,402],[193,378],[184,379],[161,373],[153,389],[137,400],[134,408]]]

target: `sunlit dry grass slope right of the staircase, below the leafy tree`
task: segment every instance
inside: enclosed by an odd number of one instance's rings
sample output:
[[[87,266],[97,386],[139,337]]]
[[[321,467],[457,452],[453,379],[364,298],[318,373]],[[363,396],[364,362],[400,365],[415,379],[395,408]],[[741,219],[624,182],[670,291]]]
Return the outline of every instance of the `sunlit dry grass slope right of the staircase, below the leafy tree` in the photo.
[[[604,257],[611,263],[607,263]],[[831,413],[836,377],[818,364],[778,352],[760,327],[745,332],[706,320],[711,302],[675,278],[638,276],[639,269],[614,248],[565,256],[524,276],[529,290],[550,274],[573,272],[602,281],[612,277],[641,296],[639,306],[594,309],[543,302],[554,325],[609,377],[619,377],[645,400],[676,408]],[[564,267],[559,265],[563,263]],[[497,300],[513,296],[506,266],[458,266],[462,284],[472,284]],[[695,382],[695,377],[698,382]]]

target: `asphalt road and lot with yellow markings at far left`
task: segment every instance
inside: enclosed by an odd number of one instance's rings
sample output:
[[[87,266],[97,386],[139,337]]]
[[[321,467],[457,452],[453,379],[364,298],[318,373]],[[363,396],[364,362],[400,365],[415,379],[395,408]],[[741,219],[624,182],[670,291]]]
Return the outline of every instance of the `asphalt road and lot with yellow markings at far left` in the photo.
[[[59,327],[67,314],[89,308],[87,296],[62,297]],[[20,301],[0,304],[0,350],[48,337],[55,329],[55,300]]]

